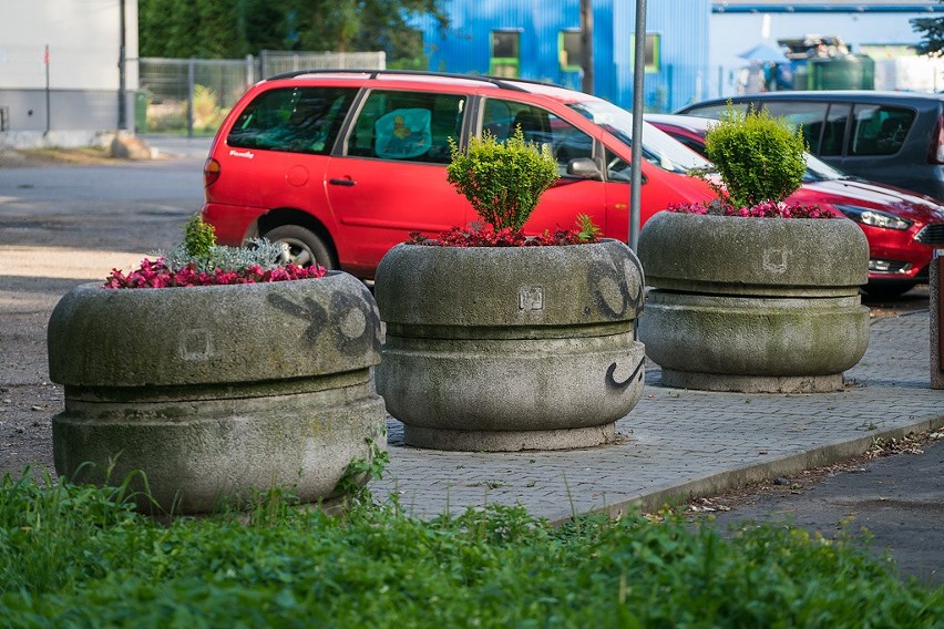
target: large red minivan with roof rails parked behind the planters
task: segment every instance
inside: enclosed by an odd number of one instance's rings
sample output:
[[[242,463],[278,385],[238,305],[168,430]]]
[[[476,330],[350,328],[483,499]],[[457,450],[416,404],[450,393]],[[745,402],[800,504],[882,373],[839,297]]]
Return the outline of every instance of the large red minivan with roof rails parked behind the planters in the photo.
[[[626,241],[632,115],[543,83],[407,71],[302,71],[252,87],[223,122],[204,167],[203,218],[225,245],[265,236],[301,264],[373,277],[411,231],[434,235],[478,216],[447,183],[450,142],[520,126],[551,146],[560,179],[527,234],[589,215]],[[707,165],[644,125],[640,220],[673,203],[714,198],[687,173]]]

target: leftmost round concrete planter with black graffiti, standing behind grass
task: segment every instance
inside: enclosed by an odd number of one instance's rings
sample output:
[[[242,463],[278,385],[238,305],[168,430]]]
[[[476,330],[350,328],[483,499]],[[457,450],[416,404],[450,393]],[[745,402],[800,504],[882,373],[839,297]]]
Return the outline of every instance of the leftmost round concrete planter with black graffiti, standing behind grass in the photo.
[[[76,287],[49,322],[50,378],[65,386],[52,425],[55,470],[113,484],[143,471],[152,498],[175,513],[273,486],[304,502],[332,497],[348,463],[370,457],[370,442],[386,447],[370,373],[379,350],[377,306],[347,274]]]

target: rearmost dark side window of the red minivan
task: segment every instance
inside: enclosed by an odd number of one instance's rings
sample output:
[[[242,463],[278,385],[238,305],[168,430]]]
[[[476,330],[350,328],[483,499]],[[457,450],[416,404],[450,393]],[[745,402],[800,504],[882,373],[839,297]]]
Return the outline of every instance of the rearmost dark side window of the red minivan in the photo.
[[[243,110],[226,143],[238,148],[327,155],[356,93],[349,87],[269,90]]]

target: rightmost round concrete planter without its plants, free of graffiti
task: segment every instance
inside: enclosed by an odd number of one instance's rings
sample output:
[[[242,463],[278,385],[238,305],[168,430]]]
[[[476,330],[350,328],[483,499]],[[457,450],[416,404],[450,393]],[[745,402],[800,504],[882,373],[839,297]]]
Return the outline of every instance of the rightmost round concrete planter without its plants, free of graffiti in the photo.
[[[663,384],[821,392],[869,344],[869,245],[844,219],[663,212],[639,235],[649,292],[639,337]]]

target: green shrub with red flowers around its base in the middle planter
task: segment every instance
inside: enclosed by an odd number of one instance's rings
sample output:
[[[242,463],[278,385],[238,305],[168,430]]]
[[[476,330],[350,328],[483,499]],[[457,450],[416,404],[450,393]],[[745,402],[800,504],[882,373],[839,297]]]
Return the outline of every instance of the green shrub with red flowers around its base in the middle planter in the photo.
[[[453,227],[429,238],[410,234],[409,244],[445,247],[529,247],[596,243],[599,229],[586,215],[577,217],[574,229],[558,229],[534,237],[522,228],[537,207],[541,195],[557,179],[557,162],[547,146],[525,141],[521,128],[506,141],[485,133],[472,137],[466,151],[450,140],[452,159],[447,181],[461,193],[482,217],[468,229]]]

